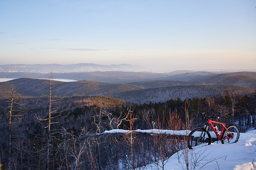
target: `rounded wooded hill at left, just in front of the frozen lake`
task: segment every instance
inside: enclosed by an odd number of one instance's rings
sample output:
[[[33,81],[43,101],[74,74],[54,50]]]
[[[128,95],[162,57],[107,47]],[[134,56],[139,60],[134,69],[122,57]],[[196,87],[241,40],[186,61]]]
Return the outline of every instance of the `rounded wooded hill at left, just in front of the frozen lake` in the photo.
[[[2,97],[11,88],[18,88],[18,91],[24,96],[40,97],[42,92],[48,92],[48,88],[43,85],[47,80],[19,78],[8,82],[0,82],[0,95]],[[143,88],[132,84],[111,84],[92,81],[77,81],[77,82],[60,82],[59,87],[54,93],[57,96],[77,96],[77,95],[105,95],[111,96],[116,93],[126,92],[131,90],[141,90]]]

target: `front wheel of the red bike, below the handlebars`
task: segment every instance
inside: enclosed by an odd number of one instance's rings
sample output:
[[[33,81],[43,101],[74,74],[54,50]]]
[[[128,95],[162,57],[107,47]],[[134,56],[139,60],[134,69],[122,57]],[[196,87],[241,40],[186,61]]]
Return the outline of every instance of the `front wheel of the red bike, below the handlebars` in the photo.
[[[207,134],[207,135],[206,136],[204,135],[204,137],[200,137],[203,131],[206,132],[206,133],[203,133],[203,135],[204,134]],[[189,133],[187,145],[189,149],[193,149],[193,147],[202,145],[202,144],[210,145],[211,140],[212,140],[212,137],[207,130],[205,130],[204,128],[195,128]]]

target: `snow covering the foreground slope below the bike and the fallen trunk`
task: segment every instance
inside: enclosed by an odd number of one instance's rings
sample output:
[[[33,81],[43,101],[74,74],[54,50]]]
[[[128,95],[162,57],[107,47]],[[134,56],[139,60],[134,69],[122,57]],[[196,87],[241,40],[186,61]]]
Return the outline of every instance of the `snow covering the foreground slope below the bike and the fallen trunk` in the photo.
[[[185,135],[190,131],[171,130],[136,130],[142,133],[162,133]],[[121,129],[105,131],[105,133],[129,132]],[[212,137],[214,135],[212,134]],[[184,150],[171,156],[164,165],[166,170],[186,169]],[[179,159],[178,159],[179,158]],[[220,141],[193,150],[188,150],[189,169],[196,170],[256,170],[256,130],[240,133],[237,143],[222,144]],[[162,169],[161,163],[151,164],[145,169]]]

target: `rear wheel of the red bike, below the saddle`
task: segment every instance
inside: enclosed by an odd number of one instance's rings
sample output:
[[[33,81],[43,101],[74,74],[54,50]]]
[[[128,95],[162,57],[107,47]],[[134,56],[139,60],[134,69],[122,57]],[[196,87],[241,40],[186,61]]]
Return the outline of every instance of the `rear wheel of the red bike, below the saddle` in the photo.
[[[228,129],[228,131],[230,131],[233,134],[233,137],[232,138],[228,138],[228,139],[223,139],[224,136],[228,136],[229,135],[227,129]],[[229,125],[227,127],[227,129],[224,129],[224,131],[223,131],[223,133],[221,135],[221,139],[222,139],[221,143],[222,144],[236,143],[238,141],[239,135],[240,135],[238,127],[236,125],[231,124],[231,125]]]

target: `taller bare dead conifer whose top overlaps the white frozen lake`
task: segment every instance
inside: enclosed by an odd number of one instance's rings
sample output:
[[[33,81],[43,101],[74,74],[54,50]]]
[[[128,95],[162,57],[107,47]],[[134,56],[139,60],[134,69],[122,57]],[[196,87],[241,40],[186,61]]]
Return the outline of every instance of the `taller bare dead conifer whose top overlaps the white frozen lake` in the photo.
[[[41,100],[44,103],[48,103],[46,106],[45,117],[41,118],[38,115],[35,115],[36,118],[40,121],[46,121],[46,170],[49,170],[49,161],[50,161],[50,148],[51,148],[51,138],[53,134],[53,130],[51,129],[51,125],[58,123],[57,119],[60,118],[61,113],[60,107],[58,103],[60,103],[64,97],[57,97],[57,93],[55,92],[59,88],[59,81],[54,81],[56,78],[51,71],[50,74],[46,75],[48,78],[46,82],[41,82],[42,86],[48,89],[48,92],[42,92],[41,94],[44,96]]]

